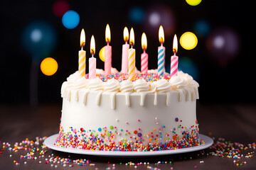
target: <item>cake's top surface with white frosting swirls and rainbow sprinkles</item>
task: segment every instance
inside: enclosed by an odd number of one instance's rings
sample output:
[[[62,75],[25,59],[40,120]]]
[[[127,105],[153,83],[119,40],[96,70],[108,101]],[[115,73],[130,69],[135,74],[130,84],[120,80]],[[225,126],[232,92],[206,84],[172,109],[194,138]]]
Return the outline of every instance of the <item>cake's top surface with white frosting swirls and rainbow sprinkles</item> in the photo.
[[[171,90],[198,88],[199,84],[193,80],[190,75],[178,72],[177,76],[171,77],[170,74],[164,73],[163,76],[157,75],[157,70],[149,70],[148,74],[140,74],[137,72],[134,81],[129,81],[127,74],[117,72],[112,69],[112,75],[105,77],[102,69],[97,69],[96,79],[88,79],[80,77],[78,72],[70,74],[67,81],[63,83],[63,88],[70,87],[75,89],[90,89],[93,91],[109,91],[109,92],[143,92],[154,91],[167,93]],[[63,92],[62,88],[62,92]]]

